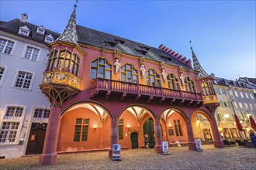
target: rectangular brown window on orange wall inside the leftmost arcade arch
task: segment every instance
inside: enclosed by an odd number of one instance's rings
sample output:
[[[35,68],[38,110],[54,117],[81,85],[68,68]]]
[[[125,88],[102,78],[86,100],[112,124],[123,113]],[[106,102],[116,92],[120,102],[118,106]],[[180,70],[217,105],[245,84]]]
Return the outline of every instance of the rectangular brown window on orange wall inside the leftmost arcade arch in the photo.
[[[89,119],[77,118],[74,126],[74,141],[87,141]]]

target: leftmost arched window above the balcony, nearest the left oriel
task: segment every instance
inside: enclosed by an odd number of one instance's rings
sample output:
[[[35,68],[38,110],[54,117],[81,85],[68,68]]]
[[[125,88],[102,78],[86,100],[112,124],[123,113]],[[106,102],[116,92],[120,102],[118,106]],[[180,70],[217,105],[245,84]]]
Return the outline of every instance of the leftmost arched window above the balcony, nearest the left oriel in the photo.
[[[95,78],[111,79],[111,64],[106,58],[98,57],[92,61],[91,65],[91,80]]]

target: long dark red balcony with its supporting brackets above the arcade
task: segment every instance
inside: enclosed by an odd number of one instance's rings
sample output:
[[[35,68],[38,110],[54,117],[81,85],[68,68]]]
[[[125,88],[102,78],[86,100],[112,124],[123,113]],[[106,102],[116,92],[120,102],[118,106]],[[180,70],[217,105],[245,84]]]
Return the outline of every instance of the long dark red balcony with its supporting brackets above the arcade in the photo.
[[[124,100],[128,95],[135,97],[135,101],[141,97],[147,98],[147,102],[157,99],[159,103],[168,100],[170,104],[202,104],[201,93],[191,93],[182,90],[171,90],[162,87],[151,87],[147,85],[121,82],[116,80],[106,80],[98,78],[91,82],[91,97],[95,97],[98,93],[106,93],[106,99],[109,99],[111,94],[121,94],[121,100]]]

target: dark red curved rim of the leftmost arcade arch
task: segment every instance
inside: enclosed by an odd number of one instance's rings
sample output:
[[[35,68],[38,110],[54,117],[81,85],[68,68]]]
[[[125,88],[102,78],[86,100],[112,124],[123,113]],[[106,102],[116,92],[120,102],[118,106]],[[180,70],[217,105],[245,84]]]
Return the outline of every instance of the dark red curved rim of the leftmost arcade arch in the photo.
[[[112,112],[109,110],[108,107],[106,107],[103,104],[100,104],[99,102],[93,101],[93,100],[78,100],[75,101],[71,104],[68,104],[67,107],[64,107],[63,110],[61,110],[61,117],[67,112],[68,109],[70,109],[71,107],[74,107],[76,104],[83,104],[83,103],[91,103],[91,104],[95,104],[98,105],[100,107],[102,107],[104,110],[106,110],[106,113],[109,115],[110,120],[115,120],[114,116],[112,115]]]

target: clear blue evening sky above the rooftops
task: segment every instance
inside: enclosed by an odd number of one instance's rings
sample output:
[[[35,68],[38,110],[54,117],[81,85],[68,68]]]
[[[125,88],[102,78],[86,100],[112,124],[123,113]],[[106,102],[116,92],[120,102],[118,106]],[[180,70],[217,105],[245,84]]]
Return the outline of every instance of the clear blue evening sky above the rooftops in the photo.
[[[0,19],[20,19],[62,32],[72,1],[0,0]],[[77,24],[192,59],[189,40],[207,73],[230,80],[256,77],[255,1],[79,1]]]

